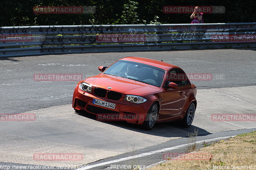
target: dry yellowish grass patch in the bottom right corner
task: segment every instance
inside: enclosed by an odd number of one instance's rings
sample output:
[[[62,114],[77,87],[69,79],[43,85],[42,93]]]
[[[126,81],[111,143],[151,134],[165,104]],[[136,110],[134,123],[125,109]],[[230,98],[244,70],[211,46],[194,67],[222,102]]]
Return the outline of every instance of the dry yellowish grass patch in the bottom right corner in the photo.
[[[246,166],[256,166],[256,131],[215,142],[209,147],[199,149],[195,153],[199,153],[198,155],[212,154],[212,158],[208,160],[172,159],[149,170],[201,170],[213,169],[213,166],[215,166],[214,169],[253,169],[254,167],[247,168]],[[226,166],[226,168],[217,168],[216,166]],[[234,168],[234,166],[240,167]]]

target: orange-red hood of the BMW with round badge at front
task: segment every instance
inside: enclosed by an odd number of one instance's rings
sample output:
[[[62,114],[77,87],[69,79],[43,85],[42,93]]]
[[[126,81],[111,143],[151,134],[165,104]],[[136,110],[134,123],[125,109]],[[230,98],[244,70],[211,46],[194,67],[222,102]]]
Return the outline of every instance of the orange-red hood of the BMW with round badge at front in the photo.
[[[84,80],[85,83],[93,87],[103,88],[109,91],[115,91],[122,94],[143,95],[160,91],[160,87],[148,85],[128,78],[112,76],[108,74],[98,74]],[[108,89],[107,87],[111,87]]]

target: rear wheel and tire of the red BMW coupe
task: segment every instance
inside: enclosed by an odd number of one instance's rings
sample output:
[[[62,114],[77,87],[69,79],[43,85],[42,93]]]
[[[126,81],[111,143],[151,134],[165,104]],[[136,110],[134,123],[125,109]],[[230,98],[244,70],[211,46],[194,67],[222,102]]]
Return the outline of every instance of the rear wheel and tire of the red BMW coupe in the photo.
[[[185,116],[183,117],[182,121],[180,121],[180,125],[184,128],[188,128],[194,120],[195,112],[196,112],[196,104],[195,104],[195,102],[192,102],[188,106],[188,110],[187,110]]]

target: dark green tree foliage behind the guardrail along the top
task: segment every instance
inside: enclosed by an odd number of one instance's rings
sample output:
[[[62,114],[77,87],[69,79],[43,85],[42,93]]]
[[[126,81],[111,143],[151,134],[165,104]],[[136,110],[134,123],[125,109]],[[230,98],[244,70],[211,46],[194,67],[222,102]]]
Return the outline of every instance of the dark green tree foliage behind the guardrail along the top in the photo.
[[[1,26],[179,24],[191,14],[165,14],[163,6],[225,6],[224,14],[204,14],[204,23],[255,22],[255,0],[1,0]],[[34,6],[94,6],[94,14],[35,14]]]

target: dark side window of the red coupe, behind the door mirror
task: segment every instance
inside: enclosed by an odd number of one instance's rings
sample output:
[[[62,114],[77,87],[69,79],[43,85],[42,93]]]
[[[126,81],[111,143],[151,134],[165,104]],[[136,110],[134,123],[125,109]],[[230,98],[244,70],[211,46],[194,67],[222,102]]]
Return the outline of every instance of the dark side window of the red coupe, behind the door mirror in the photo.
[[[180,69],[171,70],[167,75],[167,81],[176,83],[178,86],[189,84],[186,73]]]

